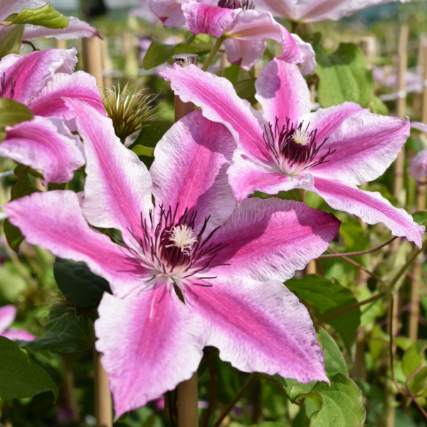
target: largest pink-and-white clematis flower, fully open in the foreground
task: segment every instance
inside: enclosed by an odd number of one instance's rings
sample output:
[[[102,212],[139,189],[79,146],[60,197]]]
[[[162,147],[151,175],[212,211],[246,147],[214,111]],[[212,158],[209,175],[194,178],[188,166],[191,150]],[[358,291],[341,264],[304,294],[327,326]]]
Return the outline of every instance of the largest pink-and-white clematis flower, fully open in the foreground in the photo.
[[[28,242],[109,281],[95,333],[116,416],[189,379],[207,345],[241,371],[327,381],[310,315],[282,282],[326,250],[339,221],[279,199],[237,208],[226,175],[234,139],[201,112],[164,135],[148,172],[110,119],[67,104],[84,139],[82,203],[48,191],[4,209]]]

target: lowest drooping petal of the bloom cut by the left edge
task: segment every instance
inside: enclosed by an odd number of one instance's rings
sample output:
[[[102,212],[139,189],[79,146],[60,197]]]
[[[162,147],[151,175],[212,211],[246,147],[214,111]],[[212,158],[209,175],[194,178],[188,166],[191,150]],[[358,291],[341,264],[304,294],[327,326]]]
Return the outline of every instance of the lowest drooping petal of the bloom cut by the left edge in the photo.
[[[14,127],[6,127],[0,156],[42,169],[45,185],[70,181],[74,171],[85,164],[79,137],[56,117],[36,116]]]

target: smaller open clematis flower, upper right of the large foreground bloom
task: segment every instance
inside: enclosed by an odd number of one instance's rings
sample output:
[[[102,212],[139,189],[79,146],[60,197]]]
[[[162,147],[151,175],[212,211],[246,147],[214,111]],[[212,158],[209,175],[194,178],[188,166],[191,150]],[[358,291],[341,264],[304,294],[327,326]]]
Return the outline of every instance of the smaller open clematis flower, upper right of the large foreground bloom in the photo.
[[[394,162],[408,139],[408,120],[375,115],[352,102],[310,112],[310,90],[297,66],[276,59],[255,83],[263,115],[241,100],[228,80],[194,65],[159,75],[181,100],[194,102],[236,137],[228,177],[239,202],[257,190],[305,189],[334,209],[369,224],[385,223],[394,236],[421,245],[424,227],[404,209],[394,208],[378,192],[357,188]]]

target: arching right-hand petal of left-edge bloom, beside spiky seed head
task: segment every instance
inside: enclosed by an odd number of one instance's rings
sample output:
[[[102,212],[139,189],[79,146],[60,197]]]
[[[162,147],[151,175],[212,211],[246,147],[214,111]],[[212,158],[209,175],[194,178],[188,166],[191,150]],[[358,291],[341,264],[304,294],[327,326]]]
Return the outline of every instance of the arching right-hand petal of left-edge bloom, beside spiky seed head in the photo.
[[[65,105],[64,97],[85,101],[105,116],[104,104],[95,77],[84,71],[77,71],[71,75],[64,73],[53,75],[28,106],[35,115],[72,120],[74,113]]]

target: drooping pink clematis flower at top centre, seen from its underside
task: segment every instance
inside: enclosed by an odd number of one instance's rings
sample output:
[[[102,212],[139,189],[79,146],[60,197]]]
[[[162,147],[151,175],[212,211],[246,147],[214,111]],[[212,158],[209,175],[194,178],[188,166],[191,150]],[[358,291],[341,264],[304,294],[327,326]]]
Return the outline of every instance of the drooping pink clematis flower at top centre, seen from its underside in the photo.
[[[166,27],[181,26],[185,22],[191,33],[225,38],[228,60],[244,70],[258,63],[268,39],[282,43],[281,60],[303,63],[306,74],[316,68],[310,43],[290,34],[270,12],[253,10],[255,6],[249,0],[186,0],[182,4],[151,0],[150,6]]]

